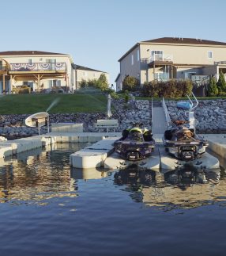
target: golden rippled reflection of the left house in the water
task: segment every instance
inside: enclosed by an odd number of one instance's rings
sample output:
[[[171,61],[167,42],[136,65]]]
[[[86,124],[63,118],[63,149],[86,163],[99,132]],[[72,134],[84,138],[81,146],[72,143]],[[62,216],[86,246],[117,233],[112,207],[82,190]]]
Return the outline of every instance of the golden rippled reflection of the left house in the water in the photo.
[[[81,147],[85,144],[60,143],[44,151],[37,149],[5,159],[4,166],[0,167],[0,202],[76,197],[69,158]]]

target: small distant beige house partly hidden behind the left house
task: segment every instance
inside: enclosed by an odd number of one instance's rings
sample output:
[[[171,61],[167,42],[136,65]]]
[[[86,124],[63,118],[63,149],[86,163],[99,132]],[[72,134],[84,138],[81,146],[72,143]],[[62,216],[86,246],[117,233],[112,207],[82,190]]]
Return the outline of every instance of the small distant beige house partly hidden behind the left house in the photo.
[[[73,64],[73,69],[75,70],[75,89],[79,89],[81,87],[81,81],[88,82],[92,79],[100,78],[101,74],[104,74],[107,78],[107,82],[110,82],[109,74],[104,71],[97,71],[96,69],[92,69],[89,67],[83,67],[77,64]]]

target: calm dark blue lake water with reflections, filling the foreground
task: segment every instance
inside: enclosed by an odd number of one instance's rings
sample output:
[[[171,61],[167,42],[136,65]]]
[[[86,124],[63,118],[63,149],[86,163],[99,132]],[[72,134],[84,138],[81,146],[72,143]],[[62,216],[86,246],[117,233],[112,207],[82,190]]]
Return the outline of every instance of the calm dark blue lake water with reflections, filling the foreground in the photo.
[[[226,176],[170,184],[137,170],[73,170],[83,144],[0,167],[1,255],[225,255]]]

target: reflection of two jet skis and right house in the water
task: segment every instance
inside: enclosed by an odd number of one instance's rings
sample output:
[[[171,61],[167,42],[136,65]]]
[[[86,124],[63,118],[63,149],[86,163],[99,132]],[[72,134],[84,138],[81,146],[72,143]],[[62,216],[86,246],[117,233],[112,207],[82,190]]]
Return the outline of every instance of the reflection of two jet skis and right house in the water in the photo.
[[[200,173],[185,168],[163,176],[150,170],[128,168],[115,173],[115,184],[126,185],[123,190],[132,192],[130,197],[134,201],[164,210],[194,208],[225,200],[223,170],[220,178],[220,170]]]

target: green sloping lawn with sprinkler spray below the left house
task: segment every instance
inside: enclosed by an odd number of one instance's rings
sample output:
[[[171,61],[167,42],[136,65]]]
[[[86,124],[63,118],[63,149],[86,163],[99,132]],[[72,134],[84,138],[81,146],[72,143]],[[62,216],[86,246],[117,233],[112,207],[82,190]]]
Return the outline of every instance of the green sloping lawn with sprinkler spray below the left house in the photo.
[[[56,102],[53,104],[53,102]],[[51,109],[47,109],[53,104]],[[103,94],[17,94],[0,97],[0,114],[106,112]]]

